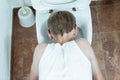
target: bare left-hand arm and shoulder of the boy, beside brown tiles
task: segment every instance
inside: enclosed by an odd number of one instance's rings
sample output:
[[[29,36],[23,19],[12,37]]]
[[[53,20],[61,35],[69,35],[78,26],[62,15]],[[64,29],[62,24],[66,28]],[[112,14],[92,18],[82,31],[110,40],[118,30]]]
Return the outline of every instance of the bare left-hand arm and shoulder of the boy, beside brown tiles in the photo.
[[[34,51],[33,55],[33,62],[31,65],[31,71],[29,75],[29,80],[38,80],[38,66],[39,66],[39,61],[42,56],[42,53],[46,47],[45,43],[39,44]]]

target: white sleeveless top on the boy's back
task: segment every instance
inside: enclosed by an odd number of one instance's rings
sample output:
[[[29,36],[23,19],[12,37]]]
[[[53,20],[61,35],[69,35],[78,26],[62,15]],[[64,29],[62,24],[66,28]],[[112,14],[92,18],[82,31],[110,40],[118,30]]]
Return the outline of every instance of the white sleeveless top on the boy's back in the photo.
[[[92,80],[91,63],[75,41],[51,43],[39,63],[39,80]]]

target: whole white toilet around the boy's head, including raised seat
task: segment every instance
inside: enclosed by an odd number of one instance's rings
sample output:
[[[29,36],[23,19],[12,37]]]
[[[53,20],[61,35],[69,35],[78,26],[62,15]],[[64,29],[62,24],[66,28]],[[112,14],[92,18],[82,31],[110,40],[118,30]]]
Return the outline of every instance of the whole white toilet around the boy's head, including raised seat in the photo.
[[[32,0],[36,10],[36,32],[38,43],[52,42],[47,35],[47,19],[52,12],[59,10],[70,11],[76,17],[78,26],[77,38],[86,38],[91,44],[92,21],[90,4],[91,0]]]

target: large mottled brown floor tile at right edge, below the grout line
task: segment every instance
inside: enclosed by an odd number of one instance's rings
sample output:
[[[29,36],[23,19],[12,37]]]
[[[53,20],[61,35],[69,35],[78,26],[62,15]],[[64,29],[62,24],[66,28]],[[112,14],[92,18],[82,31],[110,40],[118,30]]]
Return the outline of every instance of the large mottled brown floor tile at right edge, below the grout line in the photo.
[[[120,32],[103,33],[102,42],[107,69],[120,69]]]

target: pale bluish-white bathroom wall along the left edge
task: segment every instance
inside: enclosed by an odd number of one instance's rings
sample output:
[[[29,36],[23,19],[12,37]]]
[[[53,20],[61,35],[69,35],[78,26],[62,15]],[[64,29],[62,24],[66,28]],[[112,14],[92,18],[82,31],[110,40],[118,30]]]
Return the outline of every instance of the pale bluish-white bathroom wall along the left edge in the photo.
[[[0,80],[10,80],[12,8],[0,0]]]

